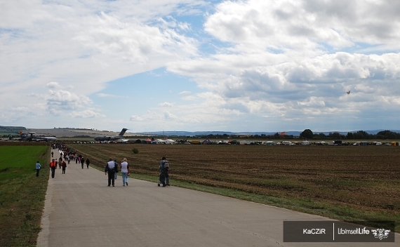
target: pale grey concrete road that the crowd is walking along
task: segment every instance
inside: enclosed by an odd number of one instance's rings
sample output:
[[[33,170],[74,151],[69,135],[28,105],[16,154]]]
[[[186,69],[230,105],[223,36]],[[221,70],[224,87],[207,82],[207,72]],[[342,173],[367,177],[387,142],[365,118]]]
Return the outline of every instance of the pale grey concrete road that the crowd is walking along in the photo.
[[[326,218],[131,178],[107,187],[105,173],[73,162],[49,179],[37,246],[399,246],[399,234],[396,243],[284,242],[284,220]]]

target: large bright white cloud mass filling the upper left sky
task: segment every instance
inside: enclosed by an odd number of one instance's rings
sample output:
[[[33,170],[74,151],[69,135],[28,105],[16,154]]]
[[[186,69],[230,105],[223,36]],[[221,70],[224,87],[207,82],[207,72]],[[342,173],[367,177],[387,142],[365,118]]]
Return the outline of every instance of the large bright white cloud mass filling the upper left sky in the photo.
[[[2,1],[0,94],[9,95],[2,99],[27,105],[27,98],[15,100],[11,95],[43,95],[37,88],[50,88],[48,97],[36,100],[49,105],[49,112],[60,114],[61,109],[76,108],[67,100],[76,95],[67,92],[91,95],[114,79],[195,55],[196,40],[185,36],[187,23],[168,15],[178,6],[189,10],[202,4]],[[83,105],[89,101],[87,96],[79,98]]]

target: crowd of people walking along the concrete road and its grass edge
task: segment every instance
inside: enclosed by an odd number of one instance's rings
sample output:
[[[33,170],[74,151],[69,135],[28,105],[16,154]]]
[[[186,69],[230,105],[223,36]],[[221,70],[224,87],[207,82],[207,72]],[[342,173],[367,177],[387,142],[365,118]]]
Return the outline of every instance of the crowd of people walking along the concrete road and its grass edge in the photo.
[[[50,162],[51,168],[51,178],[55,177],[55,169],[58,168],[62,169],[62,174],[65,174],[67,163],[69,164],[71,161],[75,161],[76,164],[80,163],[81,168],[84,168],[84,164],[86,163],[86,167],[89,168],[91,161],[84,157],[81,154],[78,154],[74,149],[68,148],[62,144],[52,144],[51,145],[51,158],[52,161]],[[60,153],[60,158],[58,160],[54,159],[54,151],[58,150]],[[39,161],[36,162],[36,177],[39,177],[39,171],[41,169],[41,164]],[[109,158],[105,166],[105,174],[108,175],[108,184],[107,186],[115,187],[115,180],[117,178],[117,173],[121,171],[122,177],[122,186],[128,186],[128,178],[129,178],[129,164],[126,158],[121,161],[119,165],[116,160]],[[166,159],[165,156],[161,158],[159,163],[159,186],[162,184],[162,187],[169,186],[169,161]]]

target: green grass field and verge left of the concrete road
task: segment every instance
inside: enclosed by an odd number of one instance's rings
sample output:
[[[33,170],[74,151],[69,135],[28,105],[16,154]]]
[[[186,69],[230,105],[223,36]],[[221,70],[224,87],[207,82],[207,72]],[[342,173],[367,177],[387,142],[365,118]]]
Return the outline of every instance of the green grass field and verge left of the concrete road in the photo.
[[[36,246],[48,185],[48,147],[0,146],[0,246]],[[36,161],[41,163],[36,178]]]

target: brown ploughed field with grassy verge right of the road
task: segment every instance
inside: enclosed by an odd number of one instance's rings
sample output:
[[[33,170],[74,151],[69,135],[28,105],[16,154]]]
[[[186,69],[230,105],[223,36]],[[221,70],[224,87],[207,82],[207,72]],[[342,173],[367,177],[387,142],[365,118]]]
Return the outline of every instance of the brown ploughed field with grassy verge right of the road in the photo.
[[[394,220],[400,232],[400,148],[367,146],[79,145],[104,167],[124,157],[131,174],[338,220]],[[133,154],[133,147],[139,154]],[[135,176],[135,175],[133,175]],[[175,182],[174,182],[175,181]],[[179,182],[178,182],[179,181]],[[199,186],[196,186],[199,185]]]

